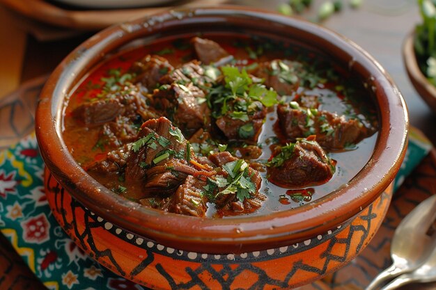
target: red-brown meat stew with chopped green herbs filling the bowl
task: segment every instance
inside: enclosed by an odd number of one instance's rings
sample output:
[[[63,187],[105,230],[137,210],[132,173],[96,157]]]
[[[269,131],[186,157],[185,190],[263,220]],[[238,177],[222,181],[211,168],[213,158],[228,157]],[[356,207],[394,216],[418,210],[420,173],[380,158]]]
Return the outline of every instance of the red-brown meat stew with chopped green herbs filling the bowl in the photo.
[[[370,158],[377,126],[371,90],[322,53],[226,34],[111,56],[68,99],[63,138],[114,193],[221,218],[343,186]]]

